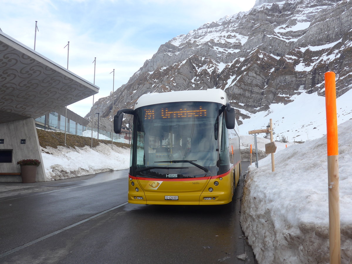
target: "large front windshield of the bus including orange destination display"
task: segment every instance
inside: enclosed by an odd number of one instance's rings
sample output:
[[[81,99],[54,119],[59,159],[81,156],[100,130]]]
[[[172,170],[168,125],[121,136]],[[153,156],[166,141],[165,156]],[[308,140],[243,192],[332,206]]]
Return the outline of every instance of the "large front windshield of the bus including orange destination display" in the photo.
[[[163,179],[218,175],[223,109],[214,102],[137,108],[130,174]]]

